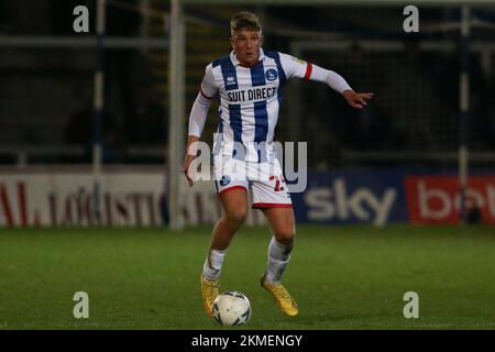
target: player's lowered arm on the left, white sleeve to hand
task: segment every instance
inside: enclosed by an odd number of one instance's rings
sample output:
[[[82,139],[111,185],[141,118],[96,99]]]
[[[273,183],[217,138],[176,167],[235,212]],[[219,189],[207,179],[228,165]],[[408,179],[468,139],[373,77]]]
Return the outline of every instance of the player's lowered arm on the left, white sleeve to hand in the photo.
[[[193,178],[189,175],[189,165],[197,156],[197,142],[201,138],[205,129],[208,110],[210,109],[211,100],[217,95],[218,88],[215,82],[213,73],[211,72],[211,64],[207,66],[205,77],[199,87],[198,96],[193,105],[189,114],[189,131],[186,144],[186,156],[183,162],[183,172],[186,175],[189,187],[193,186]]]

